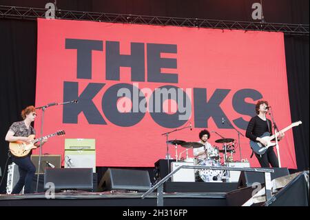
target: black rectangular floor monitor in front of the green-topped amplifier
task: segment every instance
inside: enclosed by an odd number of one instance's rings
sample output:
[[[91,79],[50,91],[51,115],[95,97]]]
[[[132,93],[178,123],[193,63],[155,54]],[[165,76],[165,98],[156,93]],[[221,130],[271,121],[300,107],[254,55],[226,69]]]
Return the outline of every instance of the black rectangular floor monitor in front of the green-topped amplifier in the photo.
[[[44,175],[44,189],[50,186],[46,183],[54,183],[55,192],[61,190],[93,190],[92,168],[61,168],[46,169]]]

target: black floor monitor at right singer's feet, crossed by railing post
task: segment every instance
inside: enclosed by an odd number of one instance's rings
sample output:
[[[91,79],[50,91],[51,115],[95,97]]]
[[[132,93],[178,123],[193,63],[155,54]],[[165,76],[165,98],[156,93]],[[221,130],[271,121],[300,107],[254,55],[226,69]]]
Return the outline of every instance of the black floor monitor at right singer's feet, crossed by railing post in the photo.
[[[287,168],[272,168],[274,172],[271,172],[271,180],[278,177],[285,177],[289,174]],[[238,181],[238,188],[245,188],[252,186],[253,183],[265,183],[265,175],[263,172],[248,172],[242,171]]]

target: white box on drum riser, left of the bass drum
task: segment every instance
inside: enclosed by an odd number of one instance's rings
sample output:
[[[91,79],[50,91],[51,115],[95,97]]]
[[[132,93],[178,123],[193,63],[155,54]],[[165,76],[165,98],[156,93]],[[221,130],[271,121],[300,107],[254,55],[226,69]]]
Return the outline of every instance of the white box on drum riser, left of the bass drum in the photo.
[[[194,163],[189,162],[172,162],[171,171],[173,172],[177,168],[183,165],[193,166]],[[180,169],[176,174],[172,176],[172,182],[194,182],[195,171],[194,169]]]

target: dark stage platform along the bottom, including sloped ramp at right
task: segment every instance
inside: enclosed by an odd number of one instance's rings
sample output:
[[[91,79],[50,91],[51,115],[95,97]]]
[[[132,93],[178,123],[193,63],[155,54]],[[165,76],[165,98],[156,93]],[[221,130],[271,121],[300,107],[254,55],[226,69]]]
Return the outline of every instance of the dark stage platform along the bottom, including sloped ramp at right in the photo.
[[[179,185],[179,186],[177,186]],[[200,188],[197,187],[200,185]],[[254,197],[252,186],[236,188],[236,184],[168,183],[163,193],[163,206],[309,206],[309,171],[278,177],[273,181],[272,197]],[[220,186],[221,185],[221,186]],[[173,192],[180,190],[193,192]],[[184,188],[187,186],[187,188]],[[205,192],[194,192],[194,191]],[[265,188],[264,183],[262,188]],[[214,191],[214,192],[208,192]],[[223,192],[216,192],[223,191]],[[257,191],[259,194],[259,192]],[[158,194],[152,192],[110,190],[104,192],[67,191],[54,194],[0,194],[0,206],[157,206]]]

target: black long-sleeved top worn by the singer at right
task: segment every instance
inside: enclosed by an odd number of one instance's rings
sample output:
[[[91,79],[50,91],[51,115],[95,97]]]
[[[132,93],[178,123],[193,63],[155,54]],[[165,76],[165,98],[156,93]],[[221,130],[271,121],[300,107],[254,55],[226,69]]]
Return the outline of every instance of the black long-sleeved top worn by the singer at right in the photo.
[[[268,129],[267,121],[269,123],[270,130]],[[256,138],[262,136],[265,132],[272,134],[271,121],[269,119],[267,119],[267,121],[260,119],[258,115],[251,118],[249,124],[247,125],[247,132],[245,132],[245,136],[252,141],[256,141]]]

